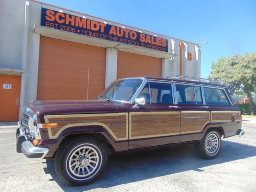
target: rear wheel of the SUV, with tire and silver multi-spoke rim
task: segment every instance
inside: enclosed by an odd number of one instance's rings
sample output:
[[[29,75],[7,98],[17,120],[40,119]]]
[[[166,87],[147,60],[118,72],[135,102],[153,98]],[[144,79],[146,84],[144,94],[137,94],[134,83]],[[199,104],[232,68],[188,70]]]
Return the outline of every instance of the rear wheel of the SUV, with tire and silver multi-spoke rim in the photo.
[[[204,159],[213,159],[219,152],[221,147],[221,137],[218,131],[210,130],[204,135],[200,143],[195,145],[199,155]]]

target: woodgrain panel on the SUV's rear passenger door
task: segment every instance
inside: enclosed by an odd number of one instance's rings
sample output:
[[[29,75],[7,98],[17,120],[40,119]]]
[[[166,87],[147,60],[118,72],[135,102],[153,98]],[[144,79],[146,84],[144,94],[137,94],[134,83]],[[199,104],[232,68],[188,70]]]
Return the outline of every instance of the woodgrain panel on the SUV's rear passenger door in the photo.
[[[209,111],[181,111],[181,134],[201,132],[204,125],[210,122]]]

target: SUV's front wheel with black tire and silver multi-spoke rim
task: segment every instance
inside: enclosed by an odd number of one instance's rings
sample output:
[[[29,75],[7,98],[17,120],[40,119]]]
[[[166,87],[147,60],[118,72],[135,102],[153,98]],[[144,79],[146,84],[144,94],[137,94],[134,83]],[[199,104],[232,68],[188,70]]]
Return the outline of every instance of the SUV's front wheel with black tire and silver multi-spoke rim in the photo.
[[[107,151],[99,140],[82,137],[68,140],[56,152],[54,167],[62,182],[84,185],[92,182],[107,164]]]

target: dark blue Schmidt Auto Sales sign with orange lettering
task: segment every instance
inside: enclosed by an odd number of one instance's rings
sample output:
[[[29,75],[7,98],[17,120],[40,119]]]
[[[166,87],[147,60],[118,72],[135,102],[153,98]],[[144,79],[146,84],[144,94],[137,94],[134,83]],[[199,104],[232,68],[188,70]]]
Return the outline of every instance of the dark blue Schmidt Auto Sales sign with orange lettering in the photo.
[[[168,52],[167,39],[46,8],[42,8],[41,26]]]

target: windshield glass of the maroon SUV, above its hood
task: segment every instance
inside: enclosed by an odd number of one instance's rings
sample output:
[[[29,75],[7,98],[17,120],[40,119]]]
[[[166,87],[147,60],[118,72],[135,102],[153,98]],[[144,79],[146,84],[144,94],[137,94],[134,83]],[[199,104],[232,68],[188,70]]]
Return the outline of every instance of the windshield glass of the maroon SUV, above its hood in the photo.
[[[142,79],[122,79],[114,81],[100,96],[101,100],[129,102],[142,84]]]

